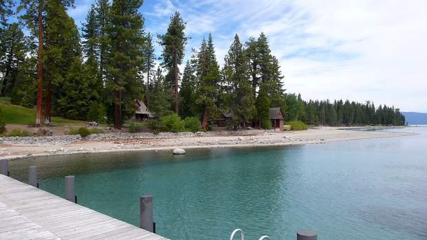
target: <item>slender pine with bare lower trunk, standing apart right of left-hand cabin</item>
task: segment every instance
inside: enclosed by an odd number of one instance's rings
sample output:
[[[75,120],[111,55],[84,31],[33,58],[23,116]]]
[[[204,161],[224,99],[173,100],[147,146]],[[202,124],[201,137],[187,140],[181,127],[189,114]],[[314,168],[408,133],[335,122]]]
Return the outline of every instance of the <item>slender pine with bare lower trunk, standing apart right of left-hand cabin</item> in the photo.
[[[167,81],[168,85],[174,88],[175,97],[175,112],[179,113],[179,65],[184,58],[185,44],[187,43],[187,36],[185,36],[186,23],[180,16],[179,12],[175,12],[171,17],[171,23],[167,28],[164,35],[158,35],[160,45],[163,47],[163,66],[167,68]]]

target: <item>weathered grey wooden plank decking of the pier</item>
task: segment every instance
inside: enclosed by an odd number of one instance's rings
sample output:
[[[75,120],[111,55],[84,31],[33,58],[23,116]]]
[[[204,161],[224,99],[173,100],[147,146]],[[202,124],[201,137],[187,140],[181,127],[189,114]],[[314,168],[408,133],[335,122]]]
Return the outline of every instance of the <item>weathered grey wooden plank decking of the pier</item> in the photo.
[[[0,239],[165,238],[0,175]]]

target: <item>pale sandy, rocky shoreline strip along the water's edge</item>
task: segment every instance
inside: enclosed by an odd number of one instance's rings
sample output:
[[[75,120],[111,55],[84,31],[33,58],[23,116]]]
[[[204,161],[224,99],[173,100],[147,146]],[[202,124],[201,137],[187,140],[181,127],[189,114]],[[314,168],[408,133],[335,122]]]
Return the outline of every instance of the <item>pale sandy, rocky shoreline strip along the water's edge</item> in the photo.
[[[390,127],[387,129],[395,129]],[[138,134],[112,134],[90,139],[72,138],[59,144],[3,144],[0,143],[0,160],[43,157],[68,154],[112,153],[125,151],[168,151],[173,149],[206,149],[224,147],[268,147],[304,144],[324,144],[374,138],[395,138],[417,133],[354,131],[357,127],[318,127],[306,131],[242,131],[229,134],[167,133],[158,138],[138,138]],[[409,129],[408,129],[409,130]],[[106,136],[107,135],[107,136]],[[120,138],[117,138],[120,137]],[[125,138],[128,137],[128,138]]]

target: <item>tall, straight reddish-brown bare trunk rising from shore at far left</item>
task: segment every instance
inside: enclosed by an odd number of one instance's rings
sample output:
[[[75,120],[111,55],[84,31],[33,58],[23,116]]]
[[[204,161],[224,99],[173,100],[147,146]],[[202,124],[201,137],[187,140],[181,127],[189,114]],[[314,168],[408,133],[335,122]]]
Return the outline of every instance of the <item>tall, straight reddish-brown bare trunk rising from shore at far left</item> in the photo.
[[[37,87],[37,118],[36,124],[43,125],[43,19],[42,19],[42,4],[39,0],[39,52],[37,56],[37,76],[39,77],[39,86]]]

